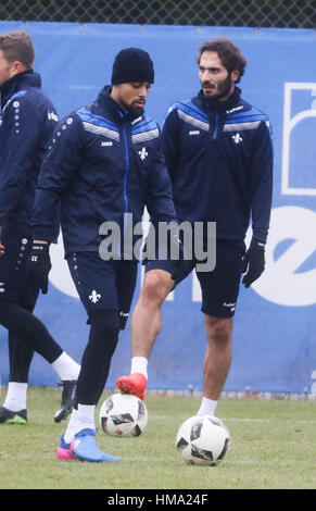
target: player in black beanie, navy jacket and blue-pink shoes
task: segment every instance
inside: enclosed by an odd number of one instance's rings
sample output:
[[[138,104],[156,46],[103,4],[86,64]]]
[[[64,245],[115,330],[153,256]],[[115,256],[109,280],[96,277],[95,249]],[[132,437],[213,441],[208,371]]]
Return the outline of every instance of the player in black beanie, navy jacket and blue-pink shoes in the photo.
[[[40,172],[34,238],[54,240],[61,204],[65,256],[90,324],[76,404],[61,437],[59,459],[119,461],[99,449],[94,421],[137,278],[137,258],[125,258],[125,245],[124,250],[118,246],[128,215],[131,227],[140,224],[144,205],[153,222],[176,220],[160,129],[143,113],[153,82],[149,54],[138,48],[122,50],[113,64],[112,86],[59,124]],[[114,253],[102,236],[105,222],[119,232],[110,244]],[[49,269],[49,251],[40,258],[35,265]]]

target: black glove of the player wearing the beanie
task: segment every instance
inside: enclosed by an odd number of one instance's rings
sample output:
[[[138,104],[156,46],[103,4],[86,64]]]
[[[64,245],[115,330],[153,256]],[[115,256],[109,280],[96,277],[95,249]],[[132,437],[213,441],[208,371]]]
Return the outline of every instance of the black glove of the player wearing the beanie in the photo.
[[[41,289],[43,295],[48,291],[48,274],[51,270],[48,244],[33,244],[28,261],[28,279]]]

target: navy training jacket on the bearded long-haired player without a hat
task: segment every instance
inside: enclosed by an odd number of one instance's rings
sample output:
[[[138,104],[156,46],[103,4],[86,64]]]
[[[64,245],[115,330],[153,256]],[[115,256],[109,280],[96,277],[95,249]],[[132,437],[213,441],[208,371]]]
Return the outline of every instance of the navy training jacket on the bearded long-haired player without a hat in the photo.
[[[170,107],[164,153],[179,221],[216,222],[217,238],[265,242],[273,192],[273,144],[267,115],[240,98],[225,102],[203,91]]]

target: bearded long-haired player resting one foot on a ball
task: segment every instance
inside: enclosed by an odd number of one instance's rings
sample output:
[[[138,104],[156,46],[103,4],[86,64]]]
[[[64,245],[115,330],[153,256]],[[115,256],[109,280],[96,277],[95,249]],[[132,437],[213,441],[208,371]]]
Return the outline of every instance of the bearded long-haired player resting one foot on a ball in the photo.
[[[215,414],[228,375],[232,324],[240,276],[245,287],[265,267],[273,191],[271,129],[267,115],[241,98],[245,59],[231,41],[215,39],[200,47],[201,90],[169,109],[164,153],[179,222],[216,222],[216,266],[197,272],[202,289],[207,347],[203,397],[198,414]],[[252,240],[244,237],[252,216]],[[204,239],[205,244],[212,239]],[[148,359],[161,329],[161,306],[176,284],[195,267],[184,261],[149,261],[140,298],[131,317],[131,371],[116,385],[144,398]],[[192,339],[192,342],[193,339]]]

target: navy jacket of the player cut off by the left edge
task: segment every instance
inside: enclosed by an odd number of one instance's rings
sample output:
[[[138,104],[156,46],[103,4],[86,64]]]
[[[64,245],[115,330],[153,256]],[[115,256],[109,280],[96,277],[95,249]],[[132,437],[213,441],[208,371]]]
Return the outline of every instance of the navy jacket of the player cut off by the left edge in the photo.
[[[40,87],[33,71],[0,86],[0,225],[24,235],[31,234],[36,182],[58,123]]]

